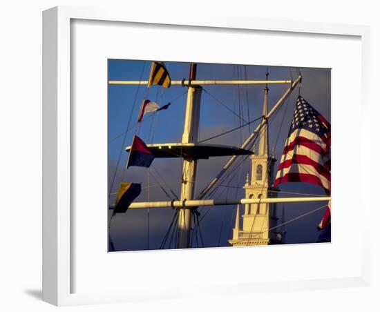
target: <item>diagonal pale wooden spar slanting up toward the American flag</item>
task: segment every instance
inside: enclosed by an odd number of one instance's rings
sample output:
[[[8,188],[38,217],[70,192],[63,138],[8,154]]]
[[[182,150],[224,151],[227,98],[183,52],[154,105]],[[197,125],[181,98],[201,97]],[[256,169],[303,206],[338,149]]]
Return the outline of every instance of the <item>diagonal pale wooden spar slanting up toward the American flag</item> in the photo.
[[[283,103],[283,101],[287,98],[287,96],[290,94],[290,92],[292,92],[292,90],[294,89],[294,87],[296,87],[296,85],[301,81],[301,79],[302,79],[302,76],[299,75],[298,78],[296,80],[294,80],[294,82],[292,83],[292,86],[290,86],[285,91],[285,93],[283,94],[283,96],[277,101],[277,103],[274,105],[274,107],[272,108],[272,110],[270,110],[270,112],[265,116],[263,122],[265,122],[265,120],[269,119],[274,114],[274,112],[281,106],[281,104]],[[252,139],[254,139],[256,133],[258,132],[258,130],[260,130],[260,128],[261,128],[261,124],[256,127],[256,129],[254,130],[253,133],[251,133],[251,135],[249,135],[248,139],[245,140],[245,142],[243,143],[243,145],[241,146],[241,148],[245,149],[251,143]],[[232,156],[229,159],[229,161],[227,162],[227,164],[225,164],[225,166],[222,168],[222,170],[220,170],[220,173],[218,173],[218,175],[211,182],[209,182],[209,184],[207,184],[207,186],[202,190],[202,192],[200,192],[199,199],[204,198],[207,195],[207,193],[209,193],[209,191],[211,190],[211,188],[213,188],[213,186],[216,184],[216,182],[218,182],[218,180],[220,179],[220,177],[222,177],[222,175],[225,174],[225,172],[227,171],[227,169],[232,164],[234,164],[236,158],[237,158],[237,156],[234,155],[234,156]]]

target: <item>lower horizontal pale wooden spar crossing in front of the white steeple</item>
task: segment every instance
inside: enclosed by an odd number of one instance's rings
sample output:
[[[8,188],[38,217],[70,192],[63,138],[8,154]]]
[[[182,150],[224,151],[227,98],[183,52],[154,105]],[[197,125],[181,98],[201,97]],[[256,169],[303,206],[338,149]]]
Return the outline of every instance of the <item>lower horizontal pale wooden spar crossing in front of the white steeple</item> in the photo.
[[[186,208],[198,206],[226,206],[237,204],[274,204],[292,202],[325,202],[331,197],[276,197],[276,198],[243,198],[243,199],[201,199],[201,200],[173,200],[164,202],[133,202],[129,209],[143,208]],[[112,207],[110,207],[112,209]],[[189,210],[189,209],[185,209]]]

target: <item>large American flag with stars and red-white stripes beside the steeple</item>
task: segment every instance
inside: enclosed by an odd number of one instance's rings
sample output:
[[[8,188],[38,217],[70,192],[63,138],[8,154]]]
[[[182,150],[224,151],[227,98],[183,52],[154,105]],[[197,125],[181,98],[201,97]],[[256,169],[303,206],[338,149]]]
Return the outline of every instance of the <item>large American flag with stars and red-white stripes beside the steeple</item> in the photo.
[[[298,96],[274,186],[307,182],[323,187],[330,195],[330,146],[330,123]]]

